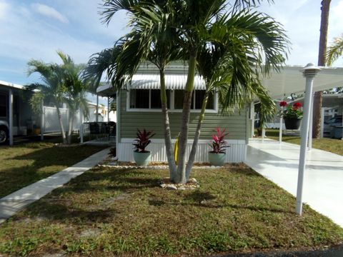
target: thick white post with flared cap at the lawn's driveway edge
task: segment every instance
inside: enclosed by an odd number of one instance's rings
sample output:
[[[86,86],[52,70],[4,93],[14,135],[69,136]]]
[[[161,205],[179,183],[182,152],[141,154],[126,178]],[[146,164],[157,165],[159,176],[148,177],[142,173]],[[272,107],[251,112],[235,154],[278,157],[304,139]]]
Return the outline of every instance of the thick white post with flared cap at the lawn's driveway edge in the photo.
[[[304,99],[304,118],[302,120],[302,140],[300,146],[300,156],[299,156],[299,172],[298,172],[298,184],[297,184],[297,207],[296,211],[299,215],[302,215],[302,189],[304,185],[304,171],[306,166],[306,153],[307,153],[307,138],[309,135],[309,116],[311,114],[312,106],[312,87],[314,76],[320,69],[314,64],[307,64],[307,66],[302,69],[302,72],[306,78],[306,89],[305,89],[305,99]]]

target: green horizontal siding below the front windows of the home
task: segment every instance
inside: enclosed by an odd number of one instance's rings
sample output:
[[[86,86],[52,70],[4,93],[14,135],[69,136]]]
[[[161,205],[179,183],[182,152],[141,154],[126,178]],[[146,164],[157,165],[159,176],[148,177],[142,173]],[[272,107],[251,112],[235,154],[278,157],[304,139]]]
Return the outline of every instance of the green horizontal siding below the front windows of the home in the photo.
[[[181,113],[169,113],[169,121],[172,129],[172,138],[179,133]],[[192,113],[189,123],[189,137],[194,135],[197,128],[199,113]],[[136,112],[126,111],[126,91],[121,91],[121,116],[119,121],[121,138],[136,137],[136,129],[153,130],[156,133],[154,138],[163,137],[163,119],[161,112]],[[226,128],[229,132],[229,139],[247,139],[247,111],[237,111],[228,116],[206,113],[202,126],[200,139],[210,139],[217,127]]]

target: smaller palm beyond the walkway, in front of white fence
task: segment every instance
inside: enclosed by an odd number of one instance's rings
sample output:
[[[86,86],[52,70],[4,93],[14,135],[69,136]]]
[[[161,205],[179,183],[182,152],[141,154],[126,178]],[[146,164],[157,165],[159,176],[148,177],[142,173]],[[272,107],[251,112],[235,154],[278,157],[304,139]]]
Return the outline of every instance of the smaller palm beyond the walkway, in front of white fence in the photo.
[[[39,89],[31,98],[31,104],[37,106],[40,99],[48,99],[54,102],[59,119],[63,143],[71,143],[71,133],[74,125],[76,111],[84,112],[88,116],[88,104],[85,91],[88,81],[81,79],[84,65],[74,64],[70,56],[57,51],[62,64],[44,64],[42,61],[29,61],[29,75],[34,72],[41,74],[43,84],[33,84],[31,88]],[[68,132],[64,131],[60,106],[67,104],[69,109]]]

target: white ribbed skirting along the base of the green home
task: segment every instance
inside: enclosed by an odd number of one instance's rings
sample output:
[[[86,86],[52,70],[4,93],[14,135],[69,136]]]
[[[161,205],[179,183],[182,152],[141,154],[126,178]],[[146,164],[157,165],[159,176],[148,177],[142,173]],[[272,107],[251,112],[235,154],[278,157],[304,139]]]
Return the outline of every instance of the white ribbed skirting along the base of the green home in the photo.
[[[119,161],[134,161],[132,155],[134,138],[121,138],[121,143],[117,147],[117,155]],[[173,140],[173,143],[175,141]],[[247,156],[247,143],[245,140],[227,140],[229,148],[227,148],[227,163],[240,163],[245,161]],[[210,151],[209,140],[199,140],[196,162],[208,162],[208,153]],[[192,141],[187,143],[187,156],[192,148]],[[146,150],[151,151],[151,161],[166,161],[166,148],[163,139],[153,139]]]

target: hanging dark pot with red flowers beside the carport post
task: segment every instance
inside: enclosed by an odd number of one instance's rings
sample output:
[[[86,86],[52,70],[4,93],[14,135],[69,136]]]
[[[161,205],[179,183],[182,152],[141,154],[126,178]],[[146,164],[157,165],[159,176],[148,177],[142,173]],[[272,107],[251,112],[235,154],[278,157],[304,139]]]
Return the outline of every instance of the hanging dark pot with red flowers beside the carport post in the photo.
[[[303,116],[302,104],[295,102],[289,105],[286,101],[281,101],[279,105],[282,107],[280,116],[284,118],[284,126],[286,126],[286,129],[299,129]]]

